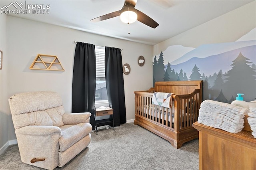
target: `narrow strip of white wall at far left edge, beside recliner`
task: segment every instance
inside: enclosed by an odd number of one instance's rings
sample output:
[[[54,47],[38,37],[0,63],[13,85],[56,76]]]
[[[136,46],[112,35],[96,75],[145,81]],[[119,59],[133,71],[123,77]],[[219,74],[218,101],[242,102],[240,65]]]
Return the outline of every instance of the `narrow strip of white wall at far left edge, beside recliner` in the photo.
[[[12,121],[8,97],[8,51],[7,51],[7,15],[0,15],[0,50],[3,51],[2,69],[0,70],[0,154],[8,146],[9,125]]]

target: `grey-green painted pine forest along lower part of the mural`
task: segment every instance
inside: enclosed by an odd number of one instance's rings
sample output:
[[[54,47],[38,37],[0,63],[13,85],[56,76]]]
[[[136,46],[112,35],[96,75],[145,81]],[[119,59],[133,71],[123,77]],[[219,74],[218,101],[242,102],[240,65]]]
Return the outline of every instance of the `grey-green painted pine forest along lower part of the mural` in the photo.
[[[160,53],[158,61],[156,56],[153,62],[153,85],[155,81],[183,81],[204,80],[203,99],[212,99],[220,102],[231,103],[236,98],[236,93],[244,93],[248,101],[256,98],[256,65],[244,57],[240,52],[232,61],[232,68],[226,73],[222,69],[213,75],[200,74],[200,69],[194,65],[188,78],[183,68],[180,71],[172,69],[170,62],[164,65],[164,54]],[[204,72],[204,71],[202,71]],[[250,91],[248,93],[248,91]],[[247,92],[247,93],[246,93]]]

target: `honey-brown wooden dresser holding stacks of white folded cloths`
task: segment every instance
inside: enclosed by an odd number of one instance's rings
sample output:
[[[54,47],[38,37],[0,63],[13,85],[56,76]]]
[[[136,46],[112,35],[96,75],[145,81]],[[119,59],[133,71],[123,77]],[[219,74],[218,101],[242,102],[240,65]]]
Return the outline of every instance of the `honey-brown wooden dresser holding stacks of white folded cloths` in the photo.
[[[256,138],[250,131],[236,134],[198,122],[200,170],[256,170]]]

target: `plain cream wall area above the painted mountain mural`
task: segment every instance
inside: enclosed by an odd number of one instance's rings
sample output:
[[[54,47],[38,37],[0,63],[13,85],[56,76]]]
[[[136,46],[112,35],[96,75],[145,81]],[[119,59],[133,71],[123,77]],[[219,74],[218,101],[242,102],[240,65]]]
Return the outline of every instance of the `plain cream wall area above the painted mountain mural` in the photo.
[[[158,55],[171,45],[198,47],[202,44],[235,42],[256,27],[256,1],[174,36],[153,47]]]

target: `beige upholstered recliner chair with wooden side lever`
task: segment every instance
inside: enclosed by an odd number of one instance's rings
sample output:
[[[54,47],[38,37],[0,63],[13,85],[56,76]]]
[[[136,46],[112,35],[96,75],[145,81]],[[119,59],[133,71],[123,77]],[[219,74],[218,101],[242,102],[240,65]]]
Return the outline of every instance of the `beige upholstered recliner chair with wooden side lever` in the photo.
[[[91,113],[65,113],[55,92],[29,92],[9,99],[22,162],[52,170],[64,166],[91,141]]]

